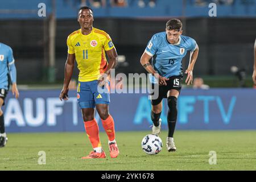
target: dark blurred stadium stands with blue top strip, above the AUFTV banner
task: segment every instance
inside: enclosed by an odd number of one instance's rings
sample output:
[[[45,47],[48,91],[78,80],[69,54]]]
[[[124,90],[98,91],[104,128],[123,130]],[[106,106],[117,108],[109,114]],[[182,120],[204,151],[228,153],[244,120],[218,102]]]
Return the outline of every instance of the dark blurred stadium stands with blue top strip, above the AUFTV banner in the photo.
[[[195,76],[203,77],[210,87],[237,87],[239,82],[230,71],[236,66],[245,69],[245,86],[253,86],[249,78],[256,32],[254,0],[156,0],[153,7],[148,5],[149,0],[143,0],[145,7],[139,6],[138,0],[123,0],[127,2],[125,7],[113,7],[108,0],[104,7],[97,8],[92,1],[1,3],[1,42],[14,49],[19,85],[62,83],[67,35],[79,29],[77,9],[86,2],[94,10],[94,26],[108,32],[118,55],[125,56],[117,72],[144,72],[139,59],[145,45],[156,32],[164,31],[168,19],[175,17],[183,20],[184,35],[200,45]],[[40,2],[46,4],[46,17],[38,16]],[[209,17],[209,2],[217,3],[217,17]],[[77,73],[75,69],[75,79]]]

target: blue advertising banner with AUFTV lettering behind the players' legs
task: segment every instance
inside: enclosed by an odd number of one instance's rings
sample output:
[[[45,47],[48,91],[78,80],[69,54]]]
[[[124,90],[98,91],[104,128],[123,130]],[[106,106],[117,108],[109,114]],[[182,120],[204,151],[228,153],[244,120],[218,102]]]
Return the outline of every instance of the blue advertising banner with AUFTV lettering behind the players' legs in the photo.
[[[7,95],[7,132],[84,131],[76,92],[69,100],[59,100],[60,90],[20,91],[16,100]],[[117,131],[151,130],[151,105],[147,94],[110,94],[110,114]],[[167,103],[163,101],[162,123],[167,128]],[[254,130],[256,129],[256,90],[183,89],[177,103],[177,129]],[[96,119],[101,119],[96,112]]]

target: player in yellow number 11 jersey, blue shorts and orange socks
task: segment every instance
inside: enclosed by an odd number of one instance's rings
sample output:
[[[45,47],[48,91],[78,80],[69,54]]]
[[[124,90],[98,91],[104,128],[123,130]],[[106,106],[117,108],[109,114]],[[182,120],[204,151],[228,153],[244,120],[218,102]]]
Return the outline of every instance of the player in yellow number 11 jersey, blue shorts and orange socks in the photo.
[[[106,79],[102,79],[102,75],[109,75],[110,69],[115,67],[117,51],[110,36],[93,27],[93,11],[90,7],[81,7],[77,20],[81,29],[70,34],[67,39],[68,58],[60,100],[68,100],[68,85],[76,59],[80,71],[77,101],[82,110],[86,134],[93,146],[93,151],[82,159],[106,158],[101,147],[98,124],[94,119],[95,106],[109,138],[110,156],[116,158],[119,151],[115,141],[114,121],[109,114],[109,84]],[[105,52],[109,57],[109,63],[106,61]],[[98,86],[105,92],[99,93]]]

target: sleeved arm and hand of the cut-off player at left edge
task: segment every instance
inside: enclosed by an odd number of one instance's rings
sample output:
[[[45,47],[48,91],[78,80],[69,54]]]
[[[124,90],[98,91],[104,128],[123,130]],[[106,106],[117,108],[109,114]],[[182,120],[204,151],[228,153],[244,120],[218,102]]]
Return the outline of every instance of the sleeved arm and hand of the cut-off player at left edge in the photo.
[[[15,98],[19,97],[19,90],[16,84],[16,67],[15,67],[15,60],[13,57],[13,50],[10,48],[9,55],[8,55],[8,68],[11,77],[11,92],[13,95],[15,94]]]

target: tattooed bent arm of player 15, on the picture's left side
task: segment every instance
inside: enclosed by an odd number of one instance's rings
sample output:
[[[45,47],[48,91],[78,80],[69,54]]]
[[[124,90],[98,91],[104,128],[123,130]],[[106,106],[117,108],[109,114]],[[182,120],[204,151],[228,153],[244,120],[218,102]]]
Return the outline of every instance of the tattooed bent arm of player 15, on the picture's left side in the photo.
[[[155,46],[155,36],[153,36],[150,42],[148,43],[146,50],[141,56],[141,64],[148,73],[151,73],[152,75],[154,75],[156,80],[159,80],[159,85],[167,85],[166,80],[169,79],[166,77],[162,77],[158,73],[156,73],[155,69],[150,64],[150,59],[155,55],[157,51],[156,49],[157,48]]]

